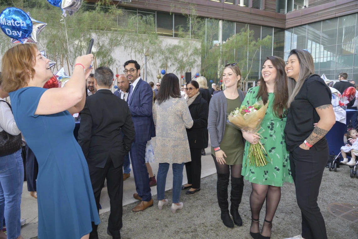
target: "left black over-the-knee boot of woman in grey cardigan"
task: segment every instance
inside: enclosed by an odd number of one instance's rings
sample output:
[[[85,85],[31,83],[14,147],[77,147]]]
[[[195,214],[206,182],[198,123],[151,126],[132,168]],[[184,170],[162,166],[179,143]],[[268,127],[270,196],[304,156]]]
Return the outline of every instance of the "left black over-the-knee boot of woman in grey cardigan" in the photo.
[[[229,177],[230,174],[217,174],[218,175],[218,181],[216,185],[217,195],[218,195],[218,203],[219,207],[221,209],[221,220],[223,220],[223,223],[225,226],[229,228],[234,227],[234,223],[231,220],[230,214],[229,214],[229,203],[227,201],[228,199],[228,192],[227,187],[229,186]]]

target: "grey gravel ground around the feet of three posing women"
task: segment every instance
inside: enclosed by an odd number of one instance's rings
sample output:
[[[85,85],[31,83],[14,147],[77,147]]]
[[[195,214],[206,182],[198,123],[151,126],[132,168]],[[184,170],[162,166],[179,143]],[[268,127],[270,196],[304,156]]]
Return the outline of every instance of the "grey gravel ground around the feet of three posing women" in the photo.
[[[325,219],[328,239],[357,239],[356,223],[338,218],[328,212],[331,203],[358,204],[358,179],[349,177],[349,167],[342,166],[337,172],[325,169],[318,198],[318,205]],[[170,206],[164,206],[162,211],[156,206],[158,200],[154,197],[154,206],[142,212],[133,213],[134,204],[123,207],[122,239],[252,239],[249,230],[251,212],[249,197],[251,185],[245,181],[245,187],[240,204],[242,226],[229,229],[220,219],[220,209],[216,195],[216,174],[202,179],[199,192],[185,195],[184,190],[180,200],[184,208],[177,213],[171,213]],[[230,187],[230,185],[229,185]],[[230,190],[230,189],[229,189]],[[286,183],[282,187],[282,196],[275,214],[271,239],[283,239],[301,233],[301,213],[297,206],[295,187]],[[171,203],[172,191],[166,191],[165,197]],[[98,226],[100,239],[112,239],[107,235],[106,228],[109,212],[100,215],[101,224]],[[260,225],[265,217],[265,205],[260,214]]]

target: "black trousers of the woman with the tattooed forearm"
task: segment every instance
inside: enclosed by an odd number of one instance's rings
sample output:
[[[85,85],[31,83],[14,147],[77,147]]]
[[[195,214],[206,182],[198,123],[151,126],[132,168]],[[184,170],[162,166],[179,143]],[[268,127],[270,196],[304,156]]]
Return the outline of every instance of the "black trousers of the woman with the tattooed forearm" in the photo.
[[[328,146],[317,151],[297,147],[290,152],[290,166],[296,186],[297,204],[302,214],[302,237],[327,239],[326,226],[317,204],[319,187],[328,159]]]

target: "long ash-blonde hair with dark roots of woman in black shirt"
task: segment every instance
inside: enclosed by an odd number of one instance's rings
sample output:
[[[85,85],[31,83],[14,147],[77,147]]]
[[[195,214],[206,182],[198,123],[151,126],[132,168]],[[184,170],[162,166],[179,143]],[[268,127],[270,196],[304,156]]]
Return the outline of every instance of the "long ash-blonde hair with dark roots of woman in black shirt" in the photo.
[[[298,74],[297,82],[295,79],[291,77],[287,77],[287,88],[289,91],[289,100],[287,102],[288,108],[290,108],[292,101],[294,101],[297,93],[300,91],[305,79],[307,79],[310,75],[314,74],[314,62],[312,55],[306,51],[301,49],[293,49],[290,52],[290,55],[296,55],[298,62],[300,64],[300,71]]]

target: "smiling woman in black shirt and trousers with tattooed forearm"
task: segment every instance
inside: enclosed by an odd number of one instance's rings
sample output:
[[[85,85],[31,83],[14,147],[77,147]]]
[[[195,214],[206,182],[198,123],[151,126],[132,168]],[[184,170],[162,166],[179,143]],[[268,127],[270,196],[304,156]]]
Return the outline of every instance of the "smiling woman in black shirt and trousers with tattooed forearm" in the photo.
[[[313,58],[307,50],[291,50],[285,70],[289,89],[286,147],[302,213],[298,238],[327,239],[317,197],[328,160],[325,135],[335,123],[332,95],[323,79],[314,74]]]

